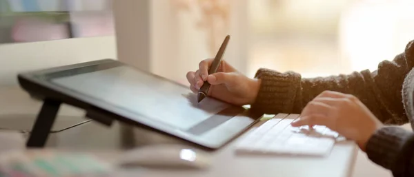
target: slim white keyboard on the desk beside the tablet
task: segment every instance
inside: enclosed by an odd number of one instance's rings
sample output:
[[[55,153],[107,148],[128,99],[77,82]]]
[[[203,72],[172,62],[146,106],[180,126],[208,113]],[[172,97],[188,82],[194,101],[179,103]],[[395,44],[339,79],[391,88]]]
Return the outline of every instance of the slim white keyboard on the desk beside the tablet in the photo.
[[[237,154],[326,156],[339,137],[324,126],[292,127],[297,114],[277,114],[237,142]]]

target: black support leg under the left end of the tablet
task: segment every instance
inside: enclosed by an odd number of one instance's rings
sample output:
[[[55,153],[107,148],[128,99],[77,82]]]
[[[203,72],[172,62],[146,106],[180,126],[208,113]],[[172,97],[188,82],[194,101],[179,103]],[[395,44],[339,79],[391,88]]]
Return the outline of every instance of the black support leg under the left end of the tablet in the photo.
[[[43,101],[41,110],[37,115],[32,132],[26,143],[27,147],[44,147],[46,140],[48,140],[50,129],[52,129],[52,125],[55,123],[60,105],[60,101],[48,98]]]

